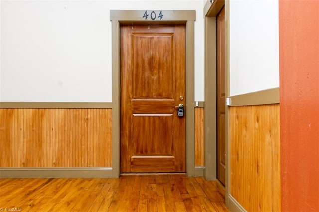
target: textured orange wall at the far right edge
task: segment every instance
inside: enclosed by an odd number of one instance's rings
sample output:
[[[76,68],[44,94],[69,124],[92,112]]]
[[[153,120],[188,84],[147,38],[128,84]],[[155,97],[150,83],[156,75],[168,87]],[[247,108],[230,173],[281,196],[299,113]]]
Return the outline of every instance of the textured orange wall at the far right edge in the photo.
[[[282,211],[319,211],[319,0],[279,0]]]

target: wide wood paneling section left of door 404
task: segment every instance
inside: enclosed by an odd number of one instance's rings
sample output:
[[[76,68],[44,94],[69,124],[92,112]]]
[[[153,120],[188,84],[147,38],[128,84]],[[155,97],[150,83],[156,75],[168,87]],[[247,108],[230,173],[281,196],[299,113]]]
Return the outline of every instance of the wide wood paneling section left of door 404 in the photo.
[[[0,167],[111,167],[111,109],[0,109]]]

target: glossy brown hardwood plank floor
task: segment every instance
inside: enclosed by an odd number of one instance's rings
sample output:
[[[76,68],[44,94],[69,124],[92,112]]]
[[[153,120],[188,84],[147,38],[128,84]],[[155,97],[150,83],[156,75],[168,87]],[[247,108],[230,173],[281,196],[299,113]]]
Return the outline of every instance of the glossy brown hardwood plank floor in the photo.
[[[224,196],[219,182],[183,174],[0,179],[1,211],[224,212]]]

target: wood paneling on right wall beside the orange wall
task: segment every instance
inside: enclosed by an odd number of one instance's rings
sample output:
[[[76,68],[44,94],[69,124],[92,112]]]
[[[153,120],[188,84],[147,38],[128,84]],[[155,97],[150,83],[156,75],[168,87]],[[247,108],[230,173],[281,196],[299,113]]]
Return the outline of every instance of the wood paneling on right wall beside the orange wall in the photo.
[[[280,211],[279,104],[230,107],[231,195],[247,211]]]

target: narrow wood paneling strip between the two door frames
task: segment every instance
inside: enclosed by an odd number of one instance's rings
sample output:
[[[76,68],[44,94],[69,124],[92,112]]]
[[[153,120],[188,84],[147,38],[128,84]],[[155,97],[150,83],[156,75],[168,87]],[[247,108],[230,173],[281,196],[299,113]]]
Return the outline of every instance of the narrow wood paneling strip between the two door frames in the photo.
[[[204,108],[195,108],[195,166],[204,166]]]

